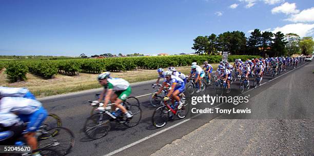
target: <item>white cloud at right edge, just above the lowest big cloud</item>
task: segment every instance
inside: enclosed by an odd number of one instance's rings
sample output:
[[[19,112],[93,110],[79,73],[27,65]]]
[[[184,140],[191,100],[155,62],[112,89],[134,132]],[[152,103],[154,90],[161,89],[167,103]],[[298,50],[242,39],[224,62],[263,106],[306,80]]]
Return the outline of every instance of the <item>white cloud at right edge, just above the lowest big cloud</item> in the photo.
[[[291,15],[290,18],[285,20],[293,21],[295,23],[314,21],[314,7],[302,10],[300,13]]]

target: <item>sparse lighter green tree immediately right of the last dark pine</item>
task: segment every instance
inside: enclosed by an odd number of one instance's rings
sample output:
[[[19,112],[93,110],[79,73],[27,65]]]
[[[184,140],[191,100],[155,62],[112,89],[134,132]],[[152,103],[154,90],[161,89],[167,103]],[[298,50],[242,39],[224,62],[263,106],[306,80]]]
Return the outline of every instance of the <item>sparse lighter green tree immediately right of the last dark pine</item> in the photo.
[[[289,56],[293,54],[298,54],[300,53],[300,47],[299,47],[299,42],[300,42],[300,36],[297,34],[289,33],[286,34],[286,50]]]

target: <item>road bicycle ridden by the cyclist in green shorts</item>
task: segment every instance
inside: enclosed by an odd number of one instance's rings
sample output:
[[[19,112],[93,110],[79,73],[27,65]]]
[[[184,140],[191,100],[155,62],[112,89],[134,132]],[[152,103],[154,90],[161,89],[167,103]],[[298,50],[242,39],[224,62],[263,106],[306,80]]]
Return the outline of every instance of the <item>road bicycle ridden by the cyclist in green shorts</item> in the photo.
[[[91,101],[89,102],[92,103]],[[84,124],[85,135],[91,139],[100,139],[105,137],[111,128],[110,122],[123,124],[126,127],[138,125],[142,118],[142,109],[139,104],[129,103],[128,99],[123,101],[121,104],[132,115],[132,118],[125,118],[120,109],[115,112],[110,111],[111,105],[114,105],[114,103],[108,104],[105,110],[99,111],[99,113],[93,114],[86,119]],[[96,106],[97,105],[93,105],[93,107]]]

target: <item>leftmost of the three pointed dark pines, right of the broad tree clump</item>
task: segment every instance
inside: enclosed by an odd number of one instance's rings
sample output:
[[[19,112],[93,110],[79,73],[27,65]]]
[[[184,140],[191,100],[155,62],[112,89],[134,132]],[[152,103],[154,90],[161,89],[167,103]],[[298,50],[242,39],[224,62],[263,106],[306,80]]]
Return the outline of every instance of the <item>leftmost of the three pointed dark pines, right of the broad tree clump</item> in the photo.
[[[261,47],[262,43],[262,34],[259,29],[254,29],[253,32],[251,32],[251,36],[248,38],[247,46],[250,51],[253,51],[253,55],[256,55],[258,48]]]

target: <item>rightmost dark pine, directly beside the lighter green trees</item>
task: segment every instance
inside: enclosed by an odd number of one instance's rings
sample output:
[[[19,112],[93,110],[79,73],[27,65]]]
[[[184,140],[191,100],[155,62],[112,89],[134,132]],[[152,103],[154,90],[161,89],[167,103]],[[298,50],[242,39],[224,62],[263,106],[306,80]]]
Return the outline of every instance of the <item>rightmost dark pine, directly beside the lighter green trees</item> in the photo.
[[[271,44],[271,51],[273,56],[284,56],[287,51],[285,49],[285,44],[287,43],[285,35],[282,32],[277,32],[274,34],[273,43]]]

